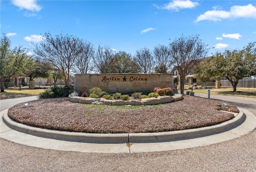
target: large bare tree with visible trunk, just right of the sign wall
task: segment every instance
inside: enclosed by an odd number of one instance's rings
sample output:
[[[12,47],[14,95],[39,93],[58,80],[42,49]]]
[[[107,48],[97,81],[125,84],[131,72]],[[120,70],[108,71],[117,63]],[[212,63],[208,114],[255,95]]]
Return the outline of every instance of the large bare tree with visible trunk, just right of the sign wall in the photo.
[[[199,35],[187,36],[183,34],[170,44],[170,55],[175,60],[175,65],[180,75],[180,93],[184,94],[184,83],[187,72],[191,70],[201,58],[206,57],[209,51],[208,45],[202,43]]]

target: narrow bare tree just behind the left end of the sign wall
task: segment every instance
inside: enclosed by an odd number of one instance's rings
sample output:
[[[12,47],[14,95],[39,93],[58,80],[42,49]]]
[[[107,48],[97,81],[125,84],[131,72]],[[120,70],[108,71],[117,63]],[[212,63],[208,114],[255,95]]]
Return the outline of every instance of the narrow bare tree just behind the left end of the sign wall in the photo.
[[[75,61],[74,72],[77,74],[87,74],[92,70],[92,58],[94,56],[94,46],[90,42],[84,42],[82,53],[78,54]]]

